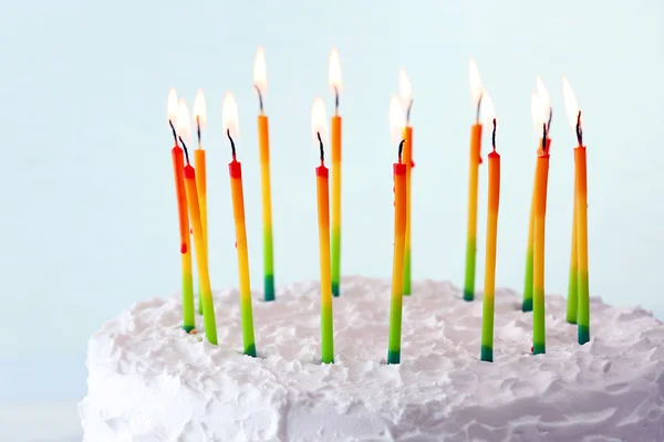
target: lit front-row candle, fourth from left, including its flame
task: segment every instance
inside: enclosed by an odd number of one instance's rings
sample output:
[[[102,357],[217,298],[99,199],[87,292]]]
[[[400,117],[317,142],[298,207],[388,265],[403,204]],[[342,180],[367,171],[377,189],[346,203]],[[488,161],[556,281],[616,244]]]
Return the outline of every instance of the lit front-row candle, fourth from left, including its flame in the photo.
[[[332,319],[332,275],[330,264],[330,183],[325,167],[323,138],[325,137],[325,105],[321,98],[313,102],[311,128],[320,146],[321,165],[315,168],[315,188],[319,218],[319,251],[321,263],[321,360],[334,362],[334,325]]]

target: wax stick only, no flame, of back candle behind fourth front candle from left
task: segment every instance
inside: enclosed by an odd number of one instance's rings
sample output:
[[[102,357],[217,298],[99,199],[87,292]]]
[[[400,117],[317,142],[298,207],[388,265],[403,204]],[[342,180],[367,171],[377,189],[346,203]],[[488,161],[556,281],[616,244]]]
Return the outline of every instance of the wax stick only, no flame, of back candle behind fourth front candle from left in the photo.
[[[332,117],[332,294],[341,284],[341,117]]]

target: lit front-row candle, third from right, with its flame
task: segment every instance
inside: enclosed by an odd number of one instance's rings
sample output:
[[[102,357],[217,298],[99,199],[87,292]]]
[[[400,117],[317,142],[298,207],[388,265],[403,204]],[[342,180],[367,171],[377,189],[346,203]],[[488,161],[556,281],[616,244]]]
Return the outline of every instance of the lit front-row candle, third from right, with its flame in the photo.
[[[500,201],[500,155],[496,151],[496,117],[494,102],[485,92],[481,101],[483,117],[494,125],[492,150],[489,159],[489,190],[487,202],[487,250],[485,257],[485,291],[481,315],[480,359],[494,361],[494,295],[496,292],[496,245],[498,236],[498,206]]]

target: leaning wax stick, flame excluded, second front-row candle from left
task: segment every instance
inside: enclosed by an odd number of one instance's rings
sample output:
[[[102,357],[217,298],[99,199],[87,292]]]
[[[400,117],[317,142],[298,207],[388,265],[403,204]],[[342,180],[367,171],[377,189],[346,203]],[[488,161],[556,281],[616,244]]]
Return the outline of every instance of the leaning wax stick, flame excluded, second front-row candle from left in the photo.
[[[187,190],[187,206],[189,207],[189,219],[194,230],[194,245],[196,251],[196,266],[198,267],[198,280],[200,282],[200,296],[204,304],[205,336],[210,344],[217,345],[217,325],[215,320],[215,306],[212,304],[212,290],[210,287],[210,275],[206,255],[205,239],[203,235],[203,222],[200,219],[200,203],[196,189],[196,173],[191,166],[185,167],[185,189]]]

